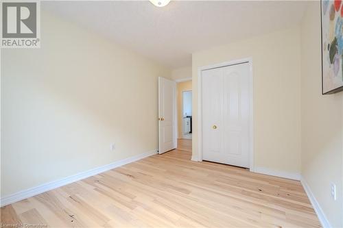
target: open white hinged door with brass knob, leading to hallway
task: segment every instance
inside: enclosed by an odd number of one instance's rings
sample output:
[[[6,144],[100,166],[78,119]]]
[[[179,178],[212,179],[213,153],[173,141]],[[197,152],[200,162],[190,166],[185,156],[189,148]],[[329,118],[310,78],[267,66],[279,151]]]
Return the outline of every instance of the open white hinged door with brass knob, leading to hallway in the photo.
[[[158,77],[158,153],[176,149],[176,82]]]

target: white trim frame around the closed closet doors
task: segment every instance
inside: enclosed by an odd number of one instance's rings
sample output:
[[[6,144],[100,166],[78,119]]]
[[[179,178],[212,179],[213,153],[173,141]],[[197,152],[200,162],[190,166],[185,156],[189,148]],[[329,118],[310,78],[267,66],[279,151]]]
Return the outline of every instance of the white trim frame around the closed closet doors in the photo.
[[[249,89],[250,89],[250,150],[249,150],[249,168],[254,171],[254,79],[252,77],[252,58],[243,58],[220,64],[212,64],[209,66],[198,67],[198,162],[202,162],[202,71],[224,66],[232,66],[236,64],[248,63],[250,68]],[[193,158],[193,157],[192,157]],[[195,159],[196,160],[196,159]]]

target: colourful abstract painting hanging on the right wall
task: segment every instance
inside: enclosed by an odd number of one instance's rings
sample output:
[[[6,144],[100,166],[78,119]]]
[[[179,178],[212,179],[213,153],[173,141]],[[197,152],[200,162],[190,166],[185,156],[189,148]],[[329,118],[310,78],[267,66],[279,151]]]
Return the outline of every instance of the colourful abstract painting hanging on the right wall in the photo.
[[[342,0],[322,0],[322,94],[343,90]]]

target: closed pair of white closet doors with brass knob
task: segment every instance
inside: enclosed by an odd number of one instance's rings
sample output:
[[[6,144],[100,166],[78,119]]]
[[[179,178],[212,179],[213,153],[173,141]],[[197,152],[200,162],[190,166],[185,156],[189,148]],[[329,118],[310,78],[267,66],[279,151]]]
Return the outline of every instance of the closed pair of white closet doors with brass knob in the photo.
[[[250,66],[202,71],[203,160],[249,168]]]

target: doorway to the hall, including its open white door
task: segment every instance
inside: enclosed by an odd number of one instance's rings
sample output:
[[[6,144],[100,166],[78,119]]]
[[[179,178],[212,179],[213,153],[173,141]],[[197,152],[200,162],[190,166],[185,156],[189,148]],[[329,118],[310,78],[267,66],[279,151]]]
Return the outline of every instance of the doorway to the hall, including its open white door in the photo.
[[[174,149],[192,153],[193,107],[191,79],[158,77],[158,153]]]

